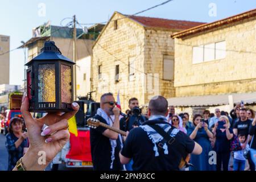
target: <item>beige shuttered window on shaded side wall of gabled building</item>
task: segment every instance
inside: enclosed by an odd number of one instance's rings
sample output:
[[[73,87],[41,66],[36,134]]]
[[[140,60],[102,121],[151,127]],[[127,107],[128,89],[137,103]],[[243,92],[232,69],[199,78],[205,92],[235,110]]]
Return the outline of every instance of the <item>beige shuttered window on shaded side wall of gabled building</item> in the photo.
[[[174,80],[174,56],[163,56],[163,80]]]

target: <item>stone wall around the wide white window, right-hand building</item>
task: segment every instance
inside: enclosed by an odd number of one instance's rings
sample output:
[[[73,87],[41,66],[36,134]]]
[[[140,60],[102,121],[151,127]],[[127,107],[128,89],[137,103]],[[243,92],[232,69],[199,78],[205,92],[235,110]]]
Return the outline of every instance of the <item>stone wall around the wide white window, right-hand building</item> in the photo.
[[[226,57],[192,64],[192,47],[226,41]],[[256,18],[175,39],[176,97],[255,92]]]

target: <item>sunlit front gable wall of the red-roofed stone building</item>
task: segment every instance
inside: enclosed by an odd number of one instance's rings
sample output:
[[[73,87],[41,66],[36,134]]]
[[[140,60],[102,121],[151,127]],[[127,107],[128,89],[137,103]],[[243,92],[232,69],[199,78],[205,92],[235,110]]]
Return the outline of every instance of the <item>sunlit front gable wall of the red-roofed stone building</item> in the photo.
[[[115,14],[114,19],[123,18]],[[135,74],[129,77],[129,60],[135,60]],[[103,93],[112,92],[119,96],[123,111],[128,107],[128,100],[137,97],[144,103],[144,28],[128,18],[110,22],[100,35],[93,47],[92,58],[92,91],[96,90],[93,98],[100,101]],[[98,77],[98,66],[102,65],[102,76]],[[115,82],[115,65],[119,65],[119,82]]]

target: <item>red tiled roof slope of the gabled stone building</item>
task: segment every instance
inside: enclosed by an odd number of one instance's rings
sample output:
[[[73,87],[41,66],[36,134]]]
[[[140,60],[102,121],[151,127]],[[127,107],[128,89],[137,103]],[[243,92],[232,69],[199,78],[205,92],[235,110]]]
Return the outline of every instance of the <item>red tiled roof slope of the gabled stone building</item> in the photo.
[[[145,17],[145,16],[129,16],[129,18],[141,23],[145,27],[170,28],[170,29],[179,29],[179,30],[185,30],[188,28],[199,26],[201,24],[205,24],[202,22],[190,22],[185,20],[151,18],[151,17]]]

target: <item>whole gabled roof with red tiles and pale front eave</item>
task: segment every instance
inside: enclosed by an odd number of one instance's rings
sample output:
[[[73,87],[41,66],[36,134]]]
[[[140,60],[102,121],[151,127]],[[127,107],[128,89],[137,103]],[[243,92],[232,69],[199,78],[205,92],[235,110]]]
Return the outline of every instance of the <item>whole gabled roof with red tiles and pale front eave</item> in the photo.
[[[151,18],[151,17],[145,17],[145,16],[124,15],[115,11],[114,14],[111,16],[109,22],[101,31],[101,34],[96,39],[95,43],[93,44],[93,47],[97,44],[98,40],[101,38],[101,35],[105,31],[106,27],[108,27],[109,23],[113,21],[112,19],[114,18],[115,14],[119,14],[123,16],[121,19],[128,18],[130,20],[133,20],[135,23],[138,23],[145,28],[164,28],[166,30],[177,31],[177,30],[185,30],[187,28],[191,28],[194,26],[199,26],[200,24],[205,24],[202,22],[189,22],[185,20],[171,20],[171,19],[163,19],[163,18]]]

